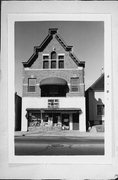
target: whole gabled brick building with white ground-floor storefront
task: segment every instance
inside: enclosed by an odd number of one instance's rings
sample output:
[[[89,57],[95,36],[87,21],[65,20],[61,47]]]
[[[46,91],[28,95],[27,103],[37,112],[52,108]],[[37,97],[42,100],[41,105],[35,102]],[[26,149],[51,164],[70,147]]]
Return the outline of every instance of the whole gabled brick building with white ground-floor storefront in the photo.
[[[23,62],[22,131],[32,126],[86,131],[85,62],[49,29]]]

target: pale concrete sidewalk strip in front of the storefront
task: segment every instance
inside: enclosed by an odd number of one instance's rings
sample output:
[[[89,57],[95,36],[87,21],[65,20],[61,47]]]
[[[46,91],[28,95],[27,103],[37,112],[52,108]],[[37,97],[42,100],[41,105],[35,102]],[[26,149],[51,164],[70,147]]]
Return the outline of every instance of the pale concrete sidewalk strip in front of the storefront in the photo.
[[[16,131],[15,136],[73,136],[73,137],[104,137],[102,132],[79,132],[78,130],[68,131]]]

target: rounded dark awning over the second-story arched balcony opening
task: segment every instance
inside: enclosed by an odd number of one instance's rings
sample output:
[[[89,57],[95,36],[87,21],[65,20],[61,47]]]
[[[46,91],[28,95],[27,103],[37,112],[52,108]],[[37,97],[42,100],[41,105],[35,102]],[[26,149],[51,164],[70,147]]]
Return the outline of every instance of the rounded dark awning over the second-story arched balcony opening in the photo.
[[[42,85],[67,85],[66,80],[57,78],[57,77],[51,77],[46,78],[40,82],[40,86]]]

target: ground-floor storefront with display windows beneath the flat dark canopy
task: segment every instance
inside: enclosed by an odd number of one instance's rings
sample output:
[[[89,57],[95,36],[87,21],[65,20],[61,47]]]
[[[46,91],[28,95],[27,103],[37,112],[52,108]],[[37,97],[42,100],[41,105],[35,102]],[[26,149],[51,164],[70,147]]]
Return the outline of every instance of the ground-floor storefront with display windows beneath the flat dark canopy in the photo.
[[[27,109],[28,128],[53,127],[62,130],[79,130],[81,109]]]

